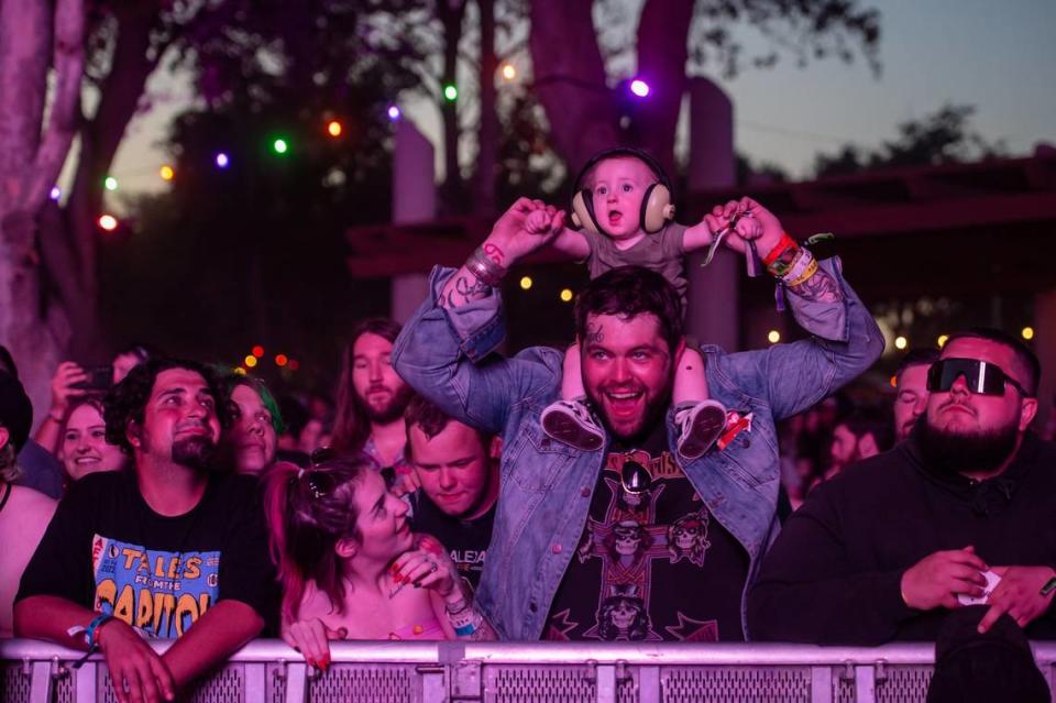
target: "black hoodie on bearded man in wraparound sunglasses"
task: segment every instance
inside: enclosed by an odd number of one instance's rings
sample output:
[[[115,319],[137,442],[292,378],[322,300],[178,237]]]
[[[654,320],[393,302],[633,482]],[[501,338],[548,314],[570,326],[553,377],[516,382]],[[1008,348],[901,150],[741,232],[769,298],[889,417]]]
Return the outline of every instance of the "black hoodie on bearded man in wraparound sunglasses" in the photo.
[[[811,492],[763,559],[749,637],[933,641],[949,611],[905,605],[902,574],[969,545],[991,568],[1056,567],[1056,446],[1027,432],[1009,468],[986,481],[930,469],[915,437],[849,466]],[[1054,608],[1026,634],[1056,639]]]

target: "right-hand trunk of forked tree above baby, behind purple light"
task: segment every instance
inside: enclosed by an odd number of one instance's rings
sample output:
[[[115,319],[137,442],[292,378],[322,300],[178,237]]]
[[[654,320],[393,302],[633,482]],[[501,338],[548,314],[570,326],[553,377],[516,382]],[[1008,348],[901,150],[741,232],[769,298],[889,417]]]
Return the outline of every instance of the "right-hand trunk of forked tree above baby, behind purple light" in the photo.
[[[638,21],[638,75],[651,88],[638,114],[638,143],[674,176],[674,132],[685,94],[693,0],[648,0]]]

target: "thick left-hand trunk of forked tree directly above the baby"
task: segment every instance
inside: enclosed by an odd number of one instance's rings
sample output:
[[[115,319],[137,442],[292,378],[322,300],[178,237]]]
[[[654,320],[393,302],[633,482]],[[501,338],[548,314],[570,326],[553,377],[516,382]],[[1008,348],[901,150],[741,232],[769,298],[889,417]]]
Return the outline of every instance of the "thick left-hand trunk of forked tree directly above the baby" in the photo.
[[[554,147],[574,174],[595,152],[620,143],[619,109],[605,80],[591,17],[592,0],[531,4],[536,95],[547,111]]]

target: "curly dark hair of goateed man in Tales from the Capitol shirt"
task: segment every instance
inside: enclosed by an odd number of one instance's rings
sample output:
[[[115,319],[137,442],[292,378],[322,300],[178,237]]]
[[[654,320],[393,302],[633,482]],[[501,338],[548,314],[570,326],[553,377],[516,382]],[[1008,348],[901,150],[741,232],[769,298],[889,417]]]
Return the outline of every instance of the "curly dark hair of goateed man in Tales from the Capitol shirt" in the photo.
[[[107,441],[117,444],[127,454],[132,454],[132,444],[129,442],[127,430],[129,422],[143,422],[143,411],[146,402],[154,391],[157,374],[169,369],[186,369],[200,375],[209,386],[209,392],[216,400],[217,418],[220,426],[231,426],[231,398],[223,383],[206,364],[186,359],[151,359],[132,369],[121,383],[110,388],[102,400],[102,418],[107,422]]]

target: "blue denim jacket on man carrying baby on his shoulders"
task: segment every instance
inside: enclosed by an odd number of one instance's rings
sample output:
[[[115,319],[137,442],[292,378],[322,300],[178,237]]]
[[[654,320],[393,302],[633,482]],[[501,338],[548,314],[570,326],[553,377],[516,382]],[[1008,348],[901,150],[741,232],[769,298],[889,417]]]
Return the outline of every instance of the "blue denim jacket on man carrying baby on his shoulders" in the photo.
[[[751,429],[722,451],[680,463],[707,509],[748,552],[745,593],[779,529],[774,422],[855,378],[883,351],[880,330],[843,281],[838,261],[822,267],[843,286],[844,301],[788,296],[814,338],[732,354],[703,348],[711,396],[730,410],[751,411]],[[437,300],[452,273],[433,268],[432,293],[396,340],[393,362],[407,383],[453,418],[502,433],[502,485],[476,602],[502,638],[538,639],[575,556],[606,449],[581,451],[546,436],[539,415],[559,396],[563,352],[536,347],[512,359],[492,354],[505,336],[501,297],[493,290],[442,308]],[[671,411],[667,425],[673,448]]]

